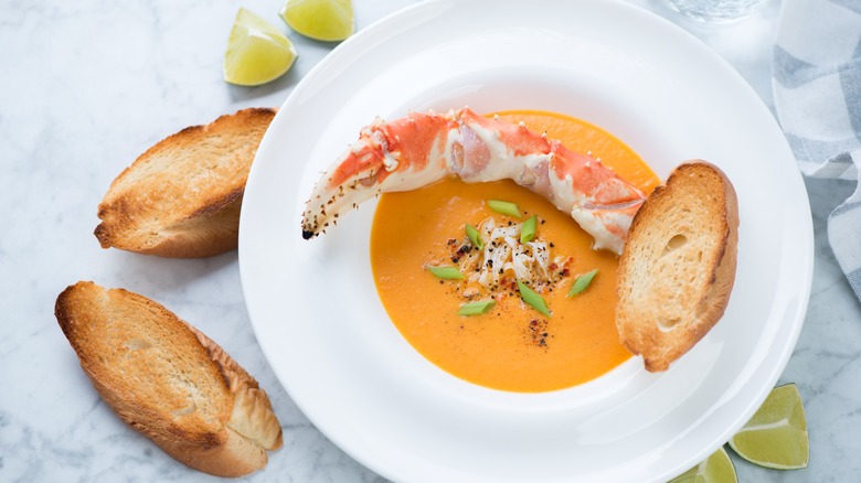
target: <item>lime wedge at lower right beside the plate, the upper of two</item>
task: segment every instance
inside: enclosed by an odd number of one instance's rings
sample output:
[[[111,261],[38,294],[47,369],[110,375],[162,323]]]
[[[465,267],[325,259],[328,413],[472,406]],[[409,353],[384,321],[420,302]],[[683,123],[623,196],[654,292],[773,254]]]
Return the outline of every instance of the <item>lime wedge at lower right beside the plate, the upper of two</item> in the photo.
[[[810,442],[795,384],[775,387],[753,418],[730,440],[745,460],[778,470],[807,468]]]

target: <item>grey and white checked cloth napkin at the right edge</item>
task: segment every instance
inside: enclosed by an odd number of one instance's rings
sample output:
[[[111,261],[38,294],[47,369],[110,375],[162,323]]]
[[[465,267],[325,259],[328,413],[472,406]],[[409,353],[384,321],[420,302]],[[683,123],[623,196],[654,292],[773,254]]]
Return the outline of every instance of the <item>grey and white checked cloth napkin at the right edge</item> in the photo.
[[[801,172],[861,181],[861,0],[784,0],[773,75]],[[828,242],[861,300],[861,189],[829,215]]]

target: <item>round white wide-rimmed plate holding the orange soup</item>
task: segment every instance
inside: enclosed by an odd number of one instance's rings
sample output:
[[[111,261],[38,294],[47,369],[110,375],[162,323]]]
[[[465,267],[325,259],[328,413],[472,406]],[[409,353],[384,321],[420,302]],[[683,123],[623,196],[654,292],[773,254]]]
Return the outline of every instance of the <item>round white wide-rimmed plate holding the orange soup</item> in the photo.
[[[565,112],[616,133],[666,176],[708,159],[738,193],[724,319],[663,374],[633,358],[546,394],[478,387],[417,354],[370,271],[373,203],[311,242],[304,203],[374,116],[469,105]],[[336,444],[397,481],[663,481],[725,442],[789,358],[812,230],[784,137],[743,79],[685,32],[604,0],[418,3],[344,42],[264,138],[240,233],[245,298],[284,387]]]

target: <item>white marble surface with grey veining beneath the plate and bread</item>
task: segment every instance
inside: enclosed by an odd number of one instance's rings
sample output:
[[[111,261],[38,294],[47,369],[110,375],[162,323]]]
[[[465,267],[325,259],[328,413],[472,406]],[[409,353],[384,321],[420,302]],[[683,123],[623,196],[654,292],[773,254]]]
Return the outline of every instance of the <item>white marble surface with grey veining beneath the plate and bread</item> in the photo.
[[[357,25],[412,3],[353,0]],[[661,0],[633,0],[710,44],[768,105],[777,0],[712,26]],[[332,44],[293,34],[300,58],[257,88],[226,85],[221,62],[238,6],[281,25],[280,1],[0,2],[0,481],[205,481],[125,427],[82,373],[53,315],[77,280],[125,287],[191,321],[254,374],[273,399],[285,447],[253,481],[382,480],[329,442],[284,391],[252,332],[236,253],[169,260],[103,250],[96,205],[149,146],[248,106],[278,106]],[[286,29],[286,28],[285,28]],[[861,308],[827,245],[825,219],[853,189],[810,181],[814,292],[782,382],[798,384],[810,466],[779,472],[735,459],[740,481],[858,481],[861,474]]]

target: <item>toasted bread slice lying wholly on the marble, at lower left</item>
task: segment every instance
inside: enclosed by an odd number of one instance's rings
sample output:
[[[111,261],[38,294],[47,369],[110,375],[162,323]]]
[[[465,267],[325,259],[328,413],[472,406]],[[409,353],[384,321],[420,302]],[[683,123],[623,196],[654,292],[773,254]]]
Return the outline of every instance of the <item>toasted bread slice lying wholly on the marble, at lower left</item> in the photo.
[[[177,460],[241,476],[281,447],[257,382],[162,305],[82,281],[60,294],[54,313],[105,402]]]

